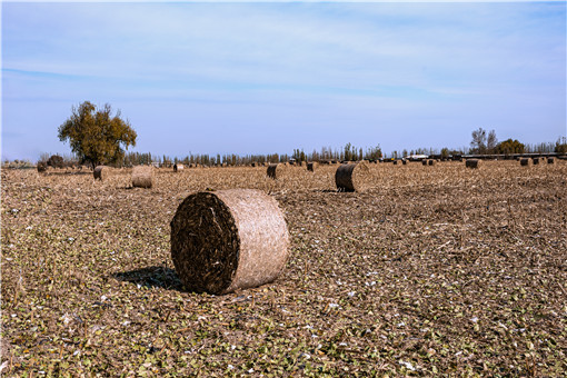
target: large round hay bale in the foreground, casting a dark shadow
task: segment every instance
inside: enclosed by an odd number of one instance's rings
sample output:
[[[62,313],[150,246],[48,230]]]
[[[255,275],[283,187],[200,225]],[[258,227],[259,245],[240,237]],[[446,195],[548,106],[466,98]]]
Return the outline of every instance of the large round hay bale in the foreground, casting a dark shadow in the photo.
[[[289,256],[278,202],[260,190],[187,197],[171,221],[171,257],[188,290],[215,295],[273,281]]]

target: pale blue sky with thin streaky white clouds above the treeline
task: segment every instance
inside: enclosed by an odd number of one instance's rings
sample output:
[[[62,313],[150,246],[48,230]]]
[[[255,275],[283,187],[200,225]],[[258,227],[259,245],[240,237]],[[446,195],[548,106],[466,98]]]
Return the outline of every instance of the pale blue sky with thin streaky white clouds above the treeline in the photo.
[[[169,157],[567,132],[564,1],[3,1],[1,21],[2,159],[70,153],[83,101]]]

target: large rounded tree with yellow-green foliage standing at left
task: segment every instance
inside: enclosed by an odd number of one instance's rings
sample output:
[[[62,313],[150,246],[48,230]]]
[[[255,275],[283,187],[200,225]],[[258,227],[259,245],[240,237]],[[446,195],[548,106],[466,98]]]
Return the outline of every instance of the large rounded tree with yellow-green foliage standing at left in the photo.
[[[110,105],[97,110],[89,101],[72,107],[58,136],[60,141],[69,141],[81,163],[89,162],[93,168],[121,161],[125,149],[136,146],[137,138],[130,122],[120,118],[120,110],[112,117]]]

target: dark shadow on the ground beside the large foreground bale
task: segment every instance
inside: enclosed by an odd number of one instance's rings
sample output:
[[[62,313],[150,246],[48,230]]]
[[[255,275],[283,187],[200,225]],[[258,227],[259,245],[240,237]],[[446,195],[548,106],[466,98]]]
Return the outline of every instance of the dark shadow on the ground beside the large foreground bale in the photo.
[[[119,281],[127,281],[146,287],[165,288],[167,290],[183,290],[183,284],[173,269],[163,266],[147,267],[130,271],[119,271],[112,273],[112,277]]]

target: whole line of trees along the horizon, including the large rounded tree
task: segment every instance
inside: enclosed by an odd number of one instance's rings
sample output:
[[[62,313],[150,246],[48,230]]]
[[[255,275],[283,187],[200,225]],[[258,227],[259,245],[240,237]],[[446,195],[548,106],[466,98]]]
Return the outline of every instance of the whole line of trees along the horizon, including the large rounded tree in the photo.
[[[68,141],[73,152],[72,158],[50,157],[42,158],[41,161],[49,166],[69,166],[76,163],[88,163],[91,167],[98,165],[113,166],[135,166],[149,165],[157,162],[160,165],[198,163],[203,166],[215,166],[226,163],[229,166],[249,165],[252,162],[281,162],[288,161],[290,158],[297,161],[321,161],[321,160],[377,160],[384,157],[380,146],[367,148],[357,148],[351,143],[345,145],[344,148],[332,149],[331,147],[322,147],[320,151],[314,150],[306,153],[302,149],[295,149],[291,156],[271,153],[271,155],[192,155],[189,153],[185,158],[171,158],[168,156],[159,157],[151,153],[126,152],[130,146],[136,146],[137,133],[132,129],[128,120],[122,120],[120,111],[112,116],[110,105],[105,105],[97,109],[94,105],[84,101],[78,107],[71,109],[71,117],[67,119],[58,130],[58,137],[61,141]],[[441,157],[464,153],[523,153],[523,152],[567,152],[567,140],[564,137],[554,143],[524,145],[518,140],[507,139],[498,142],[496,131],[487,131],[483,128],[472,131],[472,140],[470,149],[451,150],[442,148]],[[400,152],[392,151],[391,158],[401,158],[410,155],[439,155],[434,149],[416,149],[402,150]],[[54,160],[53,160],[54,159]]]

